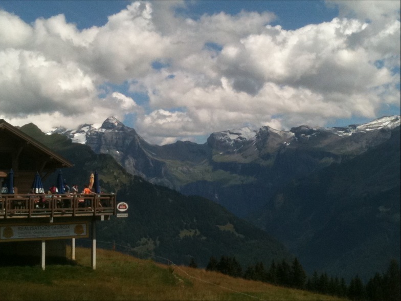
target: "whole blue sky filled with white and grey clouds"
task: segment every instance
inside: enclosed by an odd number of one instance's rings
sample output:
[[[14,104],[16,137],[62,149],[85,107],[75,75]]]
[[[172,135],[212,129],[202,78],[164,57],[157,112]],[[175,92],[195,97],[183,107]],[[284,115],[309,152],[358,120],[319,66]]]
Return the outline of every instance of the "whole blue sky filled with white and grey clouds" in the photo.
[[[400,114],[395,1],[0,2],[0,118],[148,142]]]

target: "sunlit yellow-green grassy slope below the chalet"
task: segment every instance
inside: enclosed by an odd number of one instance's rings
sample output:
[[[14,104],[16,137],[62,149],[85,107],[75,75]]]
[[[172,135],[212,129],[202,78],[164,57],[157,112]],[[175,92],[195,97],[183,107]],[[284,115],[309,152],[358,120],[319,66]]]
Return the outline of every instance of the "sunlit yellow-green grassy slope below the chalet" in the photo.
[[[73,264],[0,267],[0,300],[339,300],[233,278],[186,266],[163,265],[110,250],[76,249]]]

